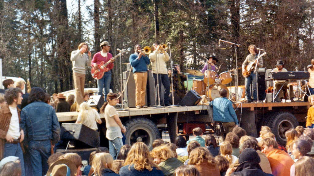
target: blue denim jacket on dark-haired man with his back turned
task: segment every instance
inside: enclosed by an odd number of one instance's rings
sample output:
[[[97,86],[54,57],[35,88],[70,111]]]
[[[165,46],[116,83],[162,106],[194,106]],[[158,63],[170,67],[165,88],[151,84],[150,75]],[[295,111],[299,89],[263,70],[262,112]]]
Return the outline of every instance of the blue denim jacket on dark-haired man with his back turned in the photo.
[[[55,144],[60,138],[60,125],[55,110],[41,101],[23,108],[20,127],[28,141],[50,139]]]

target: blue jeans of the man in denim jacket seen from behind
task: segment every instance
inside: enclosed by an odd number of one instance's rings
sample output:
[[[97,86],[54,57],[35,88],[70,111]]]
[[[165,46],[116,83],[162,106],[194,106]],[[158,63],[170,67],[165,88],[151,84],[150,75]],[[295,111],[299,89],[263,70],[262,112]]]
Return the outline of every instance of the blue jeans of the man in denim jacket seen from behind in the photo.
[[[50,148],[50,140],[29,141],[29,152],[33,176],[43,176],[47,173],[47,160],[51,155]]]

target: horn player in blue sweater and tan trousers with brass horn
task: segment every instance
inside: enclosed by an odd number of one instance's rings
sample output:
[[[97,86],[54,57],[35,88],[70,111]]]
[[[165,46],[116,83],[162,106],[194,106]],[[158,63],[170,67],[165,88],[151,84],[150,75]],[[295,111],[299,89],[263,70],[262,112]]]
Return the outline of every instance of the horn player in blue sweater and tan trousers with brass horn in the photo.
[[[145,106],[145,93],[147,84],[147,65],[150,63],[148,54],[150,47],[144,47],[137,44],[134,46],[134,53],[130,55],[130,64],[133,67],[133,78],[135,81],[135,106],[136,108],[147,108]]]

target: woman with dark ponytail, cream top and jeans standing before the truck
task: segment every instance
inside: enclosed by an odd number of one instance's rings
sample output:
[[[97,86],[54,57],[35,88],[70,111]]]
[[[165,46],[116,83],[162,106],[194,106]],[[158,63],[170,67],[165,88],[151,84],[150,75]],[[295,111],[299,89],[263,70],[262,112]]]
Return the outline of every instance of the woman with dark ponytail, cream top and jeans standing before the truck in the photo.
[[[120,148],[123,146],[122,133],[125,133],[127,129],[122,125],[119,114],[114,107],[118,102],[117,94],[108,93],[106,97],[107,101],[100,108],[100,113],[104,113],[106,120],[106,138],[109,140],[109,153],[113,159],[116,159]]]

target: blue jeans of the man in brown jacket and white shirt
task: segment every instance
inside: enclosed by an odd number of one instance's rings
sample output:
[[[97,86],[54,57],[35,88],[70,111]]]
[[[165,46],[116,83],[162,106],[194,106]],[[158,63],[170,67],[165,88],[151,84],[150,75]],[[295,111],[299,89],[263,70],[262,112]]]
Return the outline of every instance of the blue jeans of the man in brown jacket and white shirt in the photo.
[[[10,144],[5,143],[4,144],[4,152],[3,152],[3,158],[8,156],[16,156],[19,157],[21,168],[22,168],[22,176],[25,176],[25,168],[24,168],[24,157],[23,152],[20,144]]]

